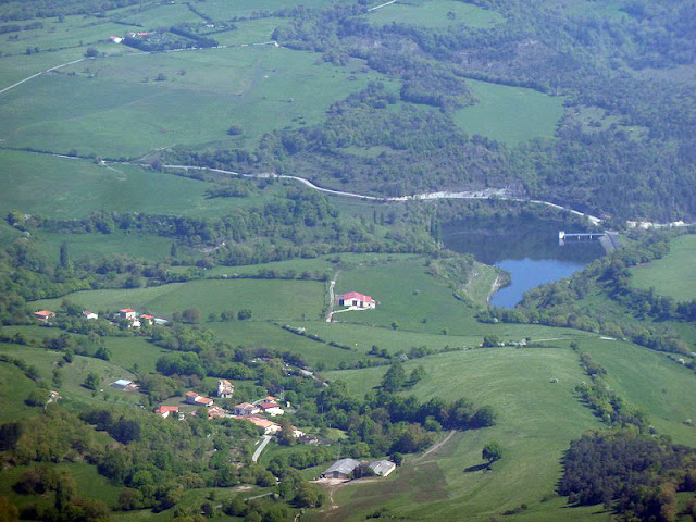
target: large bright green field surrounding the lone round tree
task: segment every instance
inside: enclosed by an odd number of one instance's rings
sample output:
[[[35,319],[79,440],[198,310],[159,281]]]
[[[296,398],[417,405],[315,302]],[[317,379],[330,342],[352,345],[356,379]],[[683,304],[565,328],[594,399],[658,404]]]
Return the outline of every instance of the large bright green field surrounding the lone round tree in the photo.
[[[560,458],[570,440],[599,427],[592,412],[573,396],[586,377],[577,356],[569,349],[492,349],[435,356],[406,364],[423,365],[426,376],[412,390],[420,399],[468,397],[498,413],[494,427],[457,434],[442,451],[407,464],[393,478],[336,492],[340,514],[336,520],[363,520],[385,506],[389,514],[413,520],[488,521],[507,509],[527,504],[531,512],[555,512],[547,520],[587,519],[594,508],[564,518],[561,502],[549,507],[542,498],[554,492]],[[362,395],[378,384],[386,369],[333,372],[331,380],[348,382]],[[558,378],[556,384],[551,378]],[[489,440],[505,447],[493,472],[467,471],[482,464],[481,449]],[[521,485],[524,485],[523,487]],[[547,515],[544,515],[546,518]],[[517,520],[517,519],[511,519]],[[527,520],[544,520],[529,517]],[[607,520],[606,514],[596,520]]]

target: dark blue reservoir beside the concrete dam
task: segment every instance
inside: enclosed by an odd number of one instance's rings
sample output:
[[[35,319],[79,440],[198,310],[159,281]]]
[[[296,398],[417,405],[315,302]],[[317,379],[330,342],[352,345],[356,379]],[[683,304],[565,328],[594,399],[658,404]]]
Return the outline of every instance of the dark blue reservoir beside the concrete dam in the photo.
[[[450,250],[472,253],[477,261],[510,273],[511,283],[490,304],[514,308],[522,294],[544,283],[568,277],[604,256],[599,241],[558,245],[558,232],[586,232],[579,225],[534,217],[470,219],[443,225],[443,240]]]

